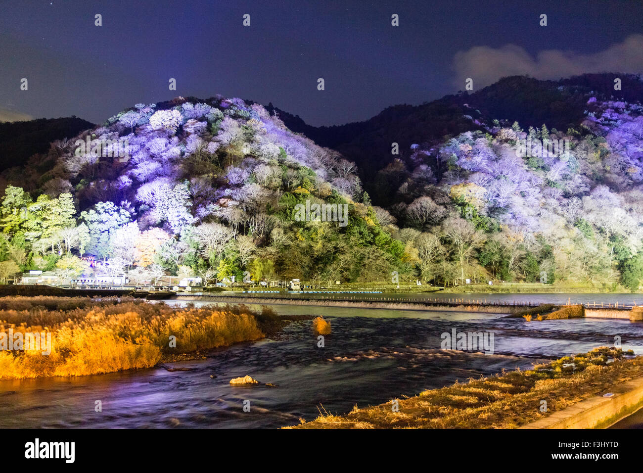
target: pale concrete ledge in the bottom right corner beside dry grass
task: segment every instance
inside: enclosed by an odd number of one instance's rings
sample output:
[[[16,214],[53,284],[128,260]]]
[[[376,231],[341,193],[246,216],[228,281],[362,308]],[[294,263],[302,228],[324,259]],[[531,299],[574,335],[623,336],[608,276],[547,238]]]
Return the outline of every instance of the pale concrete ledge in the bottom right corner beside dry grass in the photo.
[[[643,377],[615,385],[610,394],[593,396],[519,428],[606,429],[643,407]]]

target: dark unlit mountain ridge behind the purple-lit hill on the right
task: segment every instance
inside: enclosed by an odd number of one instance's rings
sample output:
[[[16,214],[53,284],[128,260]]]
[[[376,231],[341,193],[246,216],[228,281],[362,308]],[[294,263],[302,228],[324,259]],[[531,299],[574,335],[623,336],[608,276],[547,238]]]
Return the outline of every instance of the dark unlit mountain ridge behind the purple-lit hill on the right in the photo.
[[[614,89],[616,78],[621,81],[620,90]],[[374,203],[381,205],[387,194],[374,183],[377,172],[394,160],[392,143],[399,144],[400,149],[409,149],[412,144],[430,148],[464,131],[491,126],[493,120],[566,130],[583,121],[588,95],[599,100],[637,102],[643,98],[643,82],[638,75],[615,73],[584,74],[558,81],[512,76],[478,91],[460,91],[418,106],[388,107],[364,122],[321,127],[307,125],[299,116],[272,104],[266,108],[271,113],[276,111],[292,131],[336,149],[356,163],[365,189]]]

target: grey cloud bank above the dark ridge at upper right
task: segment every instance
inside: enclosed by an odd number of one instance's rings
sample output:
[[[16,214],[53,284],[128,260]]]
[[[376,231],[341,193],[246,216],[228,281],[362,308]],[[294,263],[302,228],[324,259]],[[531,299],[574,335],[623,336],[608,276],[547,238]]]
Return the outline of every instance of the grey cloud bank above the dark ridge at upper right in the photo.
[[[643,35],[631,35],[604,51],[577,54],[573,51],[545,50],[532,57],[516,44],[494,49],[475,46],[458,51],[453,57],[454,81],[464,90],[464,81],[473,79],[475,90],[508,75],[530,75],[536,79],[560,79],[584,73],[643,73]]]

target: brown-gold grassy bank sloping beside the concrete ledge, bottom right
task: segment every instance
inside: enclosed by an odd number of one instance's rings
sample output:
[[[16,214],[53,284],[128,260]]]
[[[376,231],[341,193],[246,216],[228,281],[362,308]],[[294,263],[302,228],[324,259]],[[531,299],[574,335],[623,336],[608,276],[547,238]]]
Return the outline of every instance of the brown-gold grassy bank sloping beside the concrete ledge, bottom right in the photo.
[[[597,348],[536,365],[532,370],[430,389],[373,407],[356,406],[341,416],[324,413],[311,422],[286,428],[513,429],[643,376],[643,359],[625,355],[620,349]]]

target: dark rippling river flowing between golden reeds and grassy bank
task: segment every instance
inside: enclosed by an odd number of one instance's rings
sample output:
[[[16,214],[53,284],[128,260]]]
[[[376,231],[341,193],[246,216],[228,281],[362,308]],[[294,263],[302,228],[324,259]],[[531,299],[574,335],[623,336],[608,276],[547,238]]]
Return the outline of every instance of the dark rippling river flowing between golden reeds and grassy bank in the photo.
[[[505,296],[532,301],[542,295]],[[611,302],[616,299],[610,297]],[[623,349],[643,354],[643,324],[629,320],[527,323],[489,313],[272,307],[282,315],[323,315],[331,320],[332,334],[320,348],[311,320],[300,320],[275,339],[214,350],[206,360],[171,364],[191,371],[156,367],[0,382],[0,427],[276,428],[300,418],[311,420],[320,410],[346,413],[354,405],[387,402],[456,380],[527,369],[543,358],[611,346],[615,335]],[[493,354],[440,349],[440,335],[453,329],[493,332]],[[245,375],[262,384],[229,384],[231,378]],[[95,411],[97,400],[102,412]],[[249,402],[249,412],[244,412],[244,402]]]

